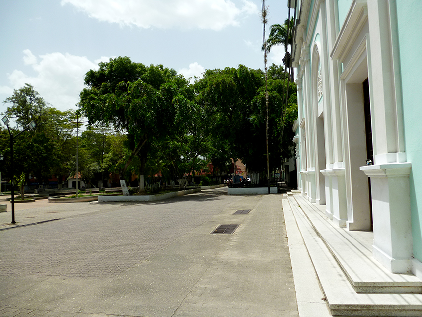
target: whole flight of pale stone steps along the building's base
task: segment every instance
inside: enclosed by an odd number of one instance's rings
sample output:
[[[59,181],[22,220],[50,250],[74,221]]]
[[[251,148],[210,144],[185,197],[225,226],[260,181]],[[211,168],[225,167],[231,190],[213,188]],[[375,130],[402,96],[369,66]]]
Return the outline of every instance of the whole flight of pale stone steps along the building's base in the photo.
[[[371,232],[335,226],[325,216],[325,206],[299,194],[284,198],[289,245],[296,243],[291,233],[298,230],[333,316],[422,316],[422,281],[412,274],[390,273],[375,261]],[[293,259],[292,265],[296,281]]]

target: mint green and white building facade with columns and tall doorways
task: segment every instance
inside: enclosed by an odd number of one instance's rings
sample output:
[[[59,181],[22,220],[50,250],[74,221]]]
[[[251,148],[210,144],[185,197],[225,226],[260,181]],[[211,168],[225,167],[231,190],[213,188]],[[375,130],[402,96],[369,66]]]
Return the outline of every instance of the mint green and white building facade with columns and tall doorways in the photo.
[[[293,2],[298,189],[422,278],[422,1]]]

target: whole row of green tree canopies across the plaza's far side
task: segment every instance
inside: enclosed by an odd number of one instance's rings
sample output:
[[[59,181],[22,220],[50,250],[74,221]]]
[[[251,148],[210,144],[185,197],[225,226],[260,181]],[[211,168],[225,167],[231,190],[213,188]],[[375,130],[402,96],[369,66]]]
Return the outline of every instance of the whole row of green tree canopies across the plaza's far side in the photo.
[[[270,169],[291,157],[291,125],[297,118],[294,83],[286,93],[282,66],[268,69]],[[145,66],[128,57],[99,63],[85,76],[79,110],[59,111],[29,85],[4,102],[18,133],[34,120],[36,129],[15,140],[15,175],[25,173],[47,182],[52,175],[76,172],[76,126],[83,116],[88,127],[78,134],[78,167],[85,183],[115,172],[130,180],[160,175],[171,182],[214,165],[227,173],[240,159],[249,172],[266,170],[265,80],[261,70],[244,65],[206,70],[190,84],[163,65]],[[282,100],[287,99],[287,107]],[[85,120],[85,119],[84,119]],[[0,129],[0,148],[8,171],[8,133]],[[61,178],[61,177],[60,177]],[[59,180],[59,183],[61,179]]]

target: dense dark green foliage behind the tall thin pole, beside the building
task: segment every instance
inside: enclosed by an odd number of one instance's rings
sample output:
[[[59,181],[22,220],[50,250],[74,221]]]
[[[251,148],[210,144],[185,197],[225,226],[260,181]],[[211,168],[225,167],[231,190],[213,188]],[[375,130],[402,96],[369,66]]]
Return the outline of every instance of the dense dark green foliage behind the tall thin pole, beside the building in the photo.
[[[268,71],[269,95],[269,158],[270,169],[281,166],[281,158],[289,157],[289,124],[283,119],[284,69],[272,65]],[[294,85],[294,83],[291,83]],[[196,83],[198,103],[206,113],[211,137],[209,158],[220,169],[225,169],[230,158],[240,158],[250,172],[261,173],[266,169],[265,87],[260,70],[240,65],[237,69],[208,70]],[[289,89],[289,104],[295,104],[296,89]],[[290,110],[290,107],[288,108]],[[294,109],[294,106],[293,106]],[[294,120],[293,120],[294,121]],[[282,141],[283,139],[284,141]]]

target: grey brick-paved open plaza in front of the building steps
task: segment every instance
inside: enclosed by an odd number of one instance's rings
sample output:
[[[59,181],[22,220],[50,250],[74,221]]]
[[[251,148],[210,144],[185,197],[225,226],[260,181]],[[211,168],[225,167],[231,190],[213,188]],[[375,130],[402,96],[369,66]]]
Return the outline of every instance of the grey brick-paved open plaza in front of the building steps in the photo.
[[[16,204],[17,226],[8,206],[0,316],[298,317],[281,200],[227,188],[158,202],[41,200]],[[240,226],[211,234],[221,224]]]

